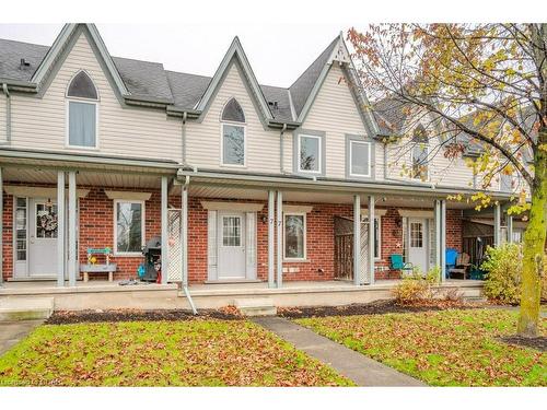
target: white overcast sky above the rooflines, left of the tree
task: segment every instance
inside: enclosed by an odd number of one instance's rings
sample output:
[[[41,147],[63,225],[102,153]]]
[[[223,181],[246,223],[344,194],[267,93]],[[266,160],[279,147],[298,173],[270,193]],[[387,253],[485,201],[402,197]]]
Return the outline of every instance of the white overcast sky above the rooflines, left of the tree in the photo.
[[[349,26],[319,24],[97,24],[110,55],[212,75],[235,35],[259,83],[289,86]],[[0,38],[50,46],[62,24],[0,24]]]

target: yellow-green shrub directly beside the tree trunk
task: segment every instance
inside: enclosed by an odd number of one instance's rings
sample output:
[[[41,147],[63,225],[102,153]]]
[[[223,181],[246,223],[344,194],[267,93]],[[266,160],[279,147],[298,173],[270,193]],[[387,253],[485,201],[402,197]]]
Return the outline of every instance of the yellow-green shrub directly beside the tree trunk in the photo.
[[[480,266],[486,271],[485,295],[501,303],[521,301],[522,246],[503,244],[486,249],[486,260]]]

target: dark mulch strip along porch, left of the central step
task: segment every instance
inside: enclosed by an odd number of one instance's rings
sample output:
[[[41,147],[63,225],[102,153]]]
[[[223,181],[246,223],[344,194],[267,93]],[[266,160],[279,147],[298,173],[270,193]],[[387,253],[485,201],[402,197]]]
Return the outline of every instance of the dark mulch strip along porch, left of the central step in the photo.
[[[221,309],[200,309],[198,315],[185,309],[112,309],[112,311],[56,311],[46,320],[47,325],[68,325],[98,321],[154,321],[154,320],[194,320],[199,319],[222,319],[235,320],[242,316],[235,308],[225,307]]]

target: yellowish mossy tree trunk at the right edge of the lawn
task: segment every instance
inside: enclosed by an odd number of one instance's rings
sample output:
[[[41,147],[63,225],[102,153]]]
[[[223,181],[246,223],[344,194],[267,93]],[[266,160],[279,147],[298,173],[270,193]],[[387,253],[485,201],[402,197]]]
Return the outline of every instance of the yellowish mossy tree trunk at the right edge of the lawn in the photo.
[[[539,131],[539,142],[546,141],[547,129]],[[537,336],[539,320],[539,300],[542,276],[544,274],[544,255],[547,219],[547,151],[545,148],[534,153],[534,183],[532,188],[532,208],[529,221],[524,232],[524,259],[522,272],[521,313],[517,332],[525,337]]]

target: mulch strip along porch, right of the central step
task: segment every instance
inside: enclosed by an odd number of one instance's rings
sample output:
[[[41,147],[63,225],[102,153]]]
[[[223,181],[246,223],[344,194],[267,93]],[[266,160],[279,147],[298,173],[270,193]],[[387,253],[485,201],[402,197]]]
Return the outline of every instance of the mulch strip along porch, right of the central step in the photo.
[[[472,309],[480,307],[485,307],[485,305],[457,301],[432,301],[419,305],[398,305],[393,300],[385,300],[345,306],[280,307],[278,308],[278,315],[291,319],[300,319],[306,317],[384,315],[387,313],[416,313],[444,311],[449,308]]]

